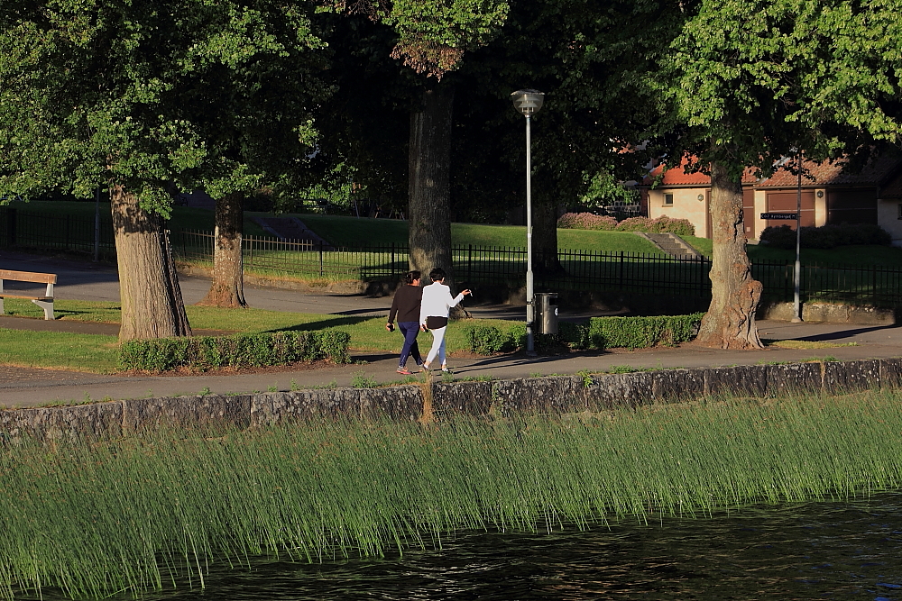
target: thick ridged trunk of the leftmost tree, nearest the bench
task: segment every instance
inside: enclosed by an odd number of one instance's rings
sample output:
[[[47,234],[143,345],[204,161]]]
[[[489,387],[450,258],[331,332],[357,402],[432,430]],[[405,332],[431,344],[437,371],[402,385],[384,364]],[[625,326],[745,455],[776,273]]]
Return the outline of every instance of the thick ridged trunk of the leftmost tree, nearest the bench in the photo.
[[[190,336],[179,275],[160,215],[149,214],[121,186],[110,197],[122,327],[119,340]]]

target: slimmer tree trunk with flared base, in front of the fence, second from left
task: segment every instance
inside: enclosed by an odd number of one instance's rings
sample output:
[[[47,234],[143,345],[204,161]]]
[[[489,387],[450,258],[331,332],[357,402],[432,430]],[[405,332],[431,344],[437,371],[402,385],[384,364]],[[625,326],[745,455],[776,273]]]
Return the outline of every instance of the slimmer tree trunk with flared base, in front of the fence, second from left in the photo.
[[[207,296],[198,305],[229,309],[247,306],[244,302],[244,263],[241,256],[243,198],[242,193],[235,192],[216,200],[213,283]]]

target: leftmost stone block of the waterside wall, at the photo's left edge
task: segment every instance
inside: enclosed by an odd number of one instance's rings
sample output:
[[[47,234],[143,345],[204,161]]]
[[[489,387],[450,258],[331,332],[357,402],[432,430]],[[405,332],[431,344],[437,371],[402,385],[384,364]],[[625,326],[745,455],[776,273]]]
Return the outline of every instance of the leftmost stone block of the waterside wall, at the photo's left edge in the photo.
[[[122,435],[120,401],[0,411],[0,438],[38,441],[115,438]]]

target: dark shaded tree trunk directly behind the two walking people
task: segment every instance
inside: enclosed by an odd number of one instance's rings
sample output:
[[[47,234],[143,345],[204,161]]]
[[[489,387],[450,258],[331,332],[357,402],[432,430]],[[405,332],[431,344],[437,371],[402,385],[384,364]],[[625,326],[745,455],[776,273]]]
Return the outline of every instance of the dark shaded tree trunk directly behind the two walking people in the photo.
[[[409,241],[410,269],[445,270],[445,283],[455,294],[451,266],[451,110],[454,88],[439,84],[423,91],[423,110],[410,114]],[[452,317],[460,317],[460,309]]]

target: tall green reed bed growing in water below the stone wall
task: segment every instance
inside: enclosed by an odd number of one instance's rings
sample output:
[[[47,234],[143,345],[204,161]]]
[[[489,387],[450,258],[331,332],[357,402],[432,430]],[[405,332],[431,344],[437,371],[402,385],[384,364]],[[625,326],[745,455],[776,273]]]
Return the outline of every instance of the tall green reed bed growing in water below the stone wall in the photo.
[[[8,443],[0,592],[203,586],[246,566],[843,499],[902,479],[897,394],[734,399],[561,417],[315,422]]]

